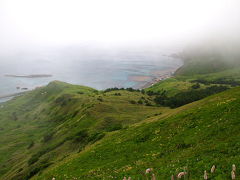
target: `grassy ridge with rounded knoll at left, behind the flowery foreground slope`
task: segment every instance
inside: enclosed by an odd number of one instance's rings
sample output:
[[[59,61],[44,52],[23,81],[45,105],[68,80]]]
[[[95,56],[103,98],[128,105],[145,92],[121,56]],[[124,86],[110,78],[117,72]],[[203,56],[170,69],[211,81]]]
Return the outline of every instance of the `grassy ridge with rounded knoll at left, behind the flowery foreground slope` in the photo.
[[[30,178],[115,129],[169,111],[129,102],[141,98],[151,102],[140,92],[53,82],[1,105],[0,179]]]

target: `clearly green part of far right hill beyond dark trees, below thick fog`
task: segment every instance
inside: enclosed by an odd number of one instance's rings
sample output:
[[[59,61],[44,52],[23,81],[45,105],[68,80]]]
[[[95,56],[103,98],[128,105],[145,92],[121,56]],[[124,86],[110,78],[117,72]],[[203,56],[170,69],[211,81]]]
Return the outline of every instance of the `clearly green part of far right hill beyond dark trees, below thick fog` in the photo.
[[[184,65],[176,71],[174,77],[160,81],[147,88],[146,91],[166,91],[167,95],[171,97],[194,89],[194,85],[197,83],[201,89],[214,85],[228,87],[240,85],[240,57],[237,62],[221,59],[208,61],[208,58],[204,59],[201,56],[198,58],[192,57],[190,60],[185,60]]]

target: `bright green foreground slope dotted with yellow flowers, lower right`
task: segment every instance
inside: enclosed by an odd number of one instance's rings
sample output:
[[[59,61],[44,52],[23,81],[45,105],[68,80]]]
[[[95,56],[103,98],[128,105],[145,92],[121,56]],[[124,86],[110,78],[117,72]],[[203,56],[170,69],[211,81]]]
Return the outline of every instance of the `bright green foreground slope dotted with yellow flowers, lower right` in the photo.
[[[216,179],[229,179],[240,160],[240,88],[208,97],[109,134],[33,179],[143,177],[152,167],[160,179],[186,167],[191,179],[217,165]]]

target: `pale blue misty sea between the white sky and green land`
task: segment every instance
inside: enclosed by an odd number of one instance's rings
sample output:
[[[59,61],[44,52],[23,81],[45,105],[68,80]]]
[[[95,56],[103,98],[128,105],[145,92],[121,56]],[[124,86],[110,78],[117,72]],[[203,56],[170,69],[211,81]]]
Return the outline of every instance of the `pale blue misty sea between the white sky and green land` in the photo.
[[[0,56],[0,96],[34,89],[60,80],[99,90],[110,87],[141,88],[161,72],[174,71],[180,59],[160,52],[86,52],[75,50],[13,53]],[[51,74],[44,78],[15,78],[11,75]],[[134,78],[131,78],[134,77]]]

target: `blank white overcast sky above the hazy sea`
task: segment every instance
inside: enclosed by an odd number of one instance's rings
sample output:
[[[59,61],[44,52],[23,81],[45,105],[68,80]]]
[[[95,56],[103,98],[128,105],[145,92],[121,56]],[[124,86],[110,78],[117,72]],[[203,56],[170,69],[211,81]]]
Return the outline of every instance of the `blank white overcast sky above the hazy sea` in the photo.
[[[239,0],[0,0],[1,49],[174,44],[237,37],[239,24]]]

